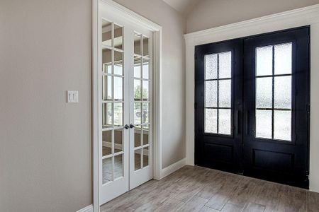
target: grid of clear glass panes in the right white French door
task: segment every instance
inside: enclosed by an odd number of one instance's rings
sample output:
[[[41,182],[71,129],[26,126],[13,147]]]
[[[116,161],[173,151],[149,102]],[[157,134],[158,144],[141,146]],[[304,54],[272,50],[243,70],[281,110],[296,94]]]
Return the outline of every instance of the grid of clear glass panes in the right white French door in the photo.
[[[134,164],[149,165],[150,156],[150,45],[149,37],[134,36]]]

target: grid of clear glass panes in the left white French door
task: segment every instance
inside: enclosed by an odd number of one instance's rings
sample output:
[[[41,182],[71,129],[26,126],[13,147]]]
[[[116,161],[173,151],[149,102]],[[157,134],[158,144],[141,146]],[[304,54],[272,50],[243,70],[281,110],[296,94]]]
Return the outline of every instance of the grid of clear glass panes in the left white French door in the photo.
[[[123,27],[101,25],[102,183],[123,177]]]

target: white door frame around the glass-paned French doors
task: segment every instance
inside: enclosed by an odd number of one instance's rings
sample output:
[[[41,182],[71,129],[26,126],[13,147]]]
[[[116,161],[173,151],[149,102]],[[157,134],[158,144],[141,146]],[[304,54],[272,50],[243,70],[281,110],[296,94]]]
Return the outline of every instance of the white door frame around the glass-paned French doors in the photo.
[[[130,11],[128,8],[117,4],[112,0],[101,0],[103,4],[111,7],[118,16],[130,21],[135,25],[140,25],[153,32],[153,176],[160,179],[162,170],[162,27],[150,20]],[[99,206],[99,39],[98,39],[98,19],[99,0],[92,0],[92,140],[93,140],[93,206],[94,212],[100,210]]]

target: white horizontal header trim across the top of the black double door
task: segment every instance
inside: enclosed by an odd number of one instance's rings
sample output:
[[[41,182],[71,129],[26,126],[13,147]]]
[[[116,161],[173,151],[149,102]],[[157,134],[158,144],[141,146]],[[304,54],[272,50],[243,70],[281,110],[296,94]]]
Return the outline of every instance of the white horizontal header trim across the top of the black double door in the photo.
[[[299,25],[304,25],[305,23],[319,23],[319,4],[303,8],[297,8],[282,13],[275,13],[269,16],[262,16],[260,18],[244,20],[238,23],[231,23],[228,25],[223,25],[220,27],[211,28],[207,30],[201,30],[194,33],[188,33],[184,35],[184,38],[186,40],[186,44],[190,42],[195,42],[197,44],[196,40],[200,39],[201,37],[228,32],[230,30],[242,30],[244,28],[252,28],[255,27],[257,24],[264,25],[268,23],[278,23],[286,21],[294,23],[295,25],[298,25],[298,23]],[[200,41],[198,40],[198,42]]]

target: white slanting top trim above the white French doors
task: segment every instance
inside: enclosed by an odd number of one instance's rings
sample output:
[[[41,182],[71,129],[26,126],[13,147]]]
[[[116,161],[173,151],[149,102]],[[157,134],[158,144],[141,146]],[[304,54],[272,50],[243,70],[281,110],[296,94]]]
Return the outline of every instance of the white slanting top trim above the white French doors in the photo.
[[[140,16],[138,13],[130,11],[125,6],[116,3],[113,0],[101,0],[102,4],[106,4],[111,8],[113,13],[118,14],[118,16],[122,16],[123,18],[130,20],[130,22],[140,25],[143,28],[147,28],[147,30],[151,31],[159,31],[162,30],[162,26],[154,23],[143,16]]]

